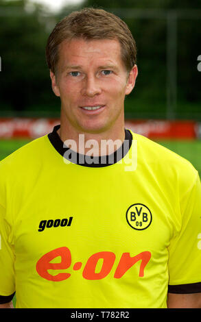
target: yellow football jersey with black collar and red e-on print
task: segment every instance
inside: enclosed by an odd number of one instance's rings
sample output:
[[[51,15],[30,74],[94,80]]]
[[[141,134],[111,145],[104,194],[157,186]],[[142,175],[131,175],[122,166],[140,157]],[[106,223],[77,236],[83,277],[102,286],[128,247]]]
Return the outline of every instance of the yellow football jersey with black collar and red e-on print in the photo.
[[[201,292],[198,171],[129,130],[121,157],[75,162],[58,128],[0,162],[1,303],[167,308]]]

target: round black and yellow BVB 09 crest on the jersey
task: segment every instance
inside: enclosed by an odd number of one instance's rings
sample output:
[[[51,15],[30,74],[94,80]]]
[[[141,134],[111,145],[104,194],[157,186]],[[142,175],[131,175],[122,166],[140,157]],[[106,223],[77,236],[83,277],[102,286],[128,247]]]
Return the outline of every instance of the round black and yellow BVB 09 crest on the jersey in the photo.
[[[143,203],[134,203],[126,212],[126,220],[134,230],[145,230],[152,223],[152,213]]]

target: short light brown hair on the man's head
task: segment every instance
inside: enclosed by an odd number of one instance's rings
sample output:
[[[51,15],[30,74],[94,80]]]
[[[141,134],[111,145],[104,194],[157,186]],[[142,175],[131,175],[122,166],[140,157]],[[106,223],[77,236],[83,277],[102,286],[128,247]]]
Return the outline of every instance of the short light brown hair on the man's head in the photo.
[[[47,66],[56,73],[59,46],[63,40],[73,38],[116,39],[121,45],[121,59],[130,72],[137,60],[137,48],[128,25],[115,14],[102,9],[84,8],[71,12],[54,27],[46,46]]]

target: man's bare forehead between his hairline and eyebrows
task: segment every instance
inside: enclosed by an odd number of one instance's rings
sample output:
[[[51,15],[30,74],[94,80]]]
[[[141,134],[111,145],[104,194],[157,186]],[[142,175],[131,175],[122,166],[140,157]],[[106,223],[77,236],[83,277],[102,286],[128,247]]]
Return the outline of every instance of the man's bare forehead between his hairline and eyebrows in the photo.
[[[123,66],[119,40],[74,38],[64,40],[60,44],[59,64],[62,68],[66,64],[103,64],[106,62]]]

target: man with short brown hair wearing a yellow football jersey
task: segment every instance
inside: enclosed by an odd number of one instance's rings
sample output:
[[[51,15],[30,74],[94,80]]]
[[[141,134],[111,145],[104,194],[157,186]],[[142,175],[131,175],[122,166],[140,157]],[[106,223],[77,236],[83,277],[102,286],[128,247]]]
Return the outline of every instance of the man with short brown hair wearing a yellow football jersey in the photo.
[[[60,125],[1,162],[1,307],[200,308],[200,179],[124,128],[127,25],[73,12],[46,54]]]

